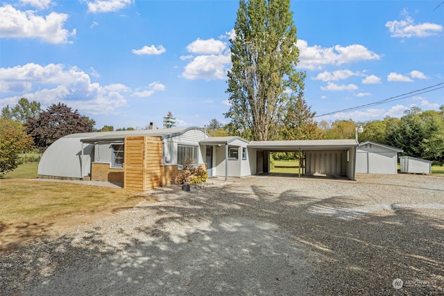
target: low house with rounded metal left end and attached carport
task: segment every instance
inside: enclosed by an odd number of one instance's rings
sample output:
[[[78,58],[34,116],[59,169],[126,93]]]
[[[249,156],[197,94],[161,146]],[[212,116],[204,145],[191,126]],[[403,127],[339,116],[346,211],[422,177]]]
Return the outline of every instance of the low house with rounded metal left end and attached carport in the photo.
[[[208,175],[246,177],[269,173],[270,153],[299,152],[305,175],[355,180],[358,143],[350,140],[247,141],[210,137],[202,128],[164,128],[71,134],[42,155],[40,178],[101,180],[145,191],[174,183],[185,157]]]

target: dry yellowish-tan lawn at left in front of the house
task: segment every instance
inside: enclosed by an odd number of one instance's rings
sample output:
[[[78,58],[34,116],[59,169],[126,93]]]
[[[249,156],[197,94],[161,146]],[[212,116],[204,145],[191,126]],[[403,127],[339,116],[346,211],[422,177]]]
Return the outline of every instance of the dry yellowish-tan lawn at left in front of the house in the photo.
[[[22,179],[0,180],[0,224],[49,222],[92,214],[103,209],[132,207],[144,193],[74,183]]]

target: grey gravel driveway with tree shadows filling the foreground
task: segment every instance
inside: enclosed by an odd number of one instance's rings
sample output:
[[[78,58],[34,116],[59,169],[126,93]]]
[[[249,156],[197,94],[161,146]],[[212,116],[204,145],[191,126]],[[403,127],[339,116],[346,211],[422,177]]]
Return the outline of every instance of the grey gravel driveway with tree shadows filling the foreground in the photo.
[[[0,254],[0,295],[444,295],[444,177],[146,193],[159,202]]]

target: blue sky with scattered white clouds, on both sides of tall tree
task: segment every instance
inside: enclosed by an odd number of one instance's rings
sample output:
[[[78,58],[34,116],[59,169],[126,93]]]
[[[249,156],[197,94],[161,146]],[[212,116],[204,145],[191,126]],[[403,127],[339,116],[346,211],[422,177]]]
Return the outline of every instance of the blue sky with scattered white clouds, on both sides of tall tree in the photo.
[[[443,1],[291,1],[316,120],[444,105]],[[0,108],[65,103],[96,128],[228,123],[239,1],[13,0],[0,6]],[[440,85],[441,84],[441,85]],[[430,88],[427,88],[430,87]],[[425,89],[427,88],[427,89]],[[428,92],[415,92],[425,89]]]

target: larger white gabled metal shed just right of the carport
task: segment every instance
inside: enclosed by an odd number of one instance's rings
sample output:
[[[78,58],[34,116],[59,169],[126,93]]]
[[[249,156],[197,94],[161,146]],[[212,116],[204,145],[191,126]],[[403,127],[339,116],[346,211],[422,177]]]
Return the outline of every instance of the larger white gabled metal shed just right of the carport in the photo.
[[[356,173],[396,174],[398,153],[402,149],[372,141],[360,143],[357,149]]]

